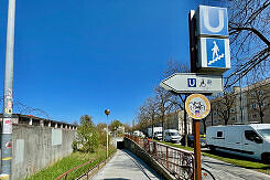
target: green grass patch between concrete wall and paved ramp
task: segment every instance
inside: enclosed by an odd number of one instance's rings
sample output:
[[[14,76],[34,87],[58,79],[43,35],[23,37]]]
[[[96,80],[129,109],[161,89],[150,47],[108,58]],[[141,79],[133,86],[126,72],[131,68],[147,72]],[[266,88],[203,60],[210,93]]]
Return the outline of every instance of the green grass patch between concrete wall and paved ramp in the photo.
[[[115,149],[110,149],[109,155],[111,155],[115,151]],[[48,168],[45,168],[37,173],[25,178],[25,180],[52,180],[56,179],[61,174],[65,173],[69,169],[73,169],[82,163],[85,163],[89,160],[93,160],[91,163],[88,163],[84,167],[78,168],[77,170],[73,171],[68,174],[67,179],[75,179],[78,176],[85,173],[88,169],[95,167],[99,162],[106,159],[106,149],[98,149],[96,152],[93,153],[84,153],[84,152],[73,152],[71,156],[65,157]]]

